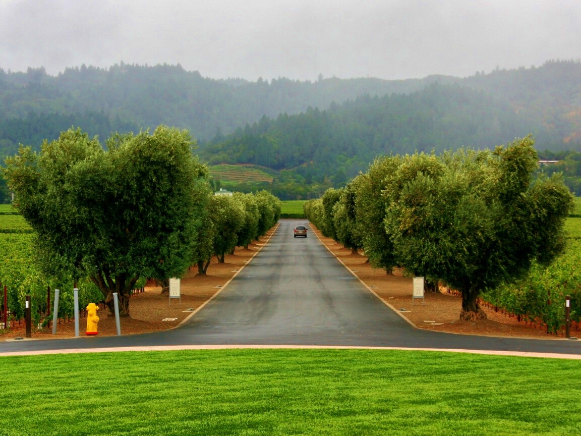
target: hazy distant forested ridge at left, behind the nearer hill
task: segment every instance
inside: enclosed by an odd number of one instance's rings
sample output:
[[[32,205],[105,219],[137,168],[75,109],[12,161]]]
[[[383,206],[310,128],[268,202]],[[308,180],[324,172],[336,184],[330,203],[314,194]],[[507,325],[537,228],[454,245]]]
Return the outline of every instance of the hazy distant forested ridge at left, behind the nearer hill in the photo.
[[[107,128],[126,131],[167,124],[209,140],[217,131],[231,133],[263,115],[327,108],[361,94],[413,92],[435,80],[213,80],[180,65],[124,63],[109,69],[67,68],[56,77],[42,68],[26,73],[0,69],[0,145],[38,146],[38,138],[56,138],[73,124],[102,139],[110,133]]]

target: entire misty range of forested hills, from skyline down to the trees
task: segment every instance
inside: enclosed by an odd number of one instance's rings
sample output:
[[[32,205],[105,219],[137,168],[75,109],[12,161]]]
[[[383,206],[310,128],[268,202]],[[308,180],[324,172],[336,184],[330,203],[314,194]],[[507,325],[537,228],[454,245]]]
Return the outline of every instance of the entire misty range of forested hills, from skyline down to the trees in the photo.
[[[579,151],[581,63],[312,82],[216,80],[180,65],[0,70],[3,156],[71,126],[104,142],[159,124],[187,128],[206,162],[284,170],[297,185],[344,184],[386,153],[490,148],[528,134],[537,149]]]

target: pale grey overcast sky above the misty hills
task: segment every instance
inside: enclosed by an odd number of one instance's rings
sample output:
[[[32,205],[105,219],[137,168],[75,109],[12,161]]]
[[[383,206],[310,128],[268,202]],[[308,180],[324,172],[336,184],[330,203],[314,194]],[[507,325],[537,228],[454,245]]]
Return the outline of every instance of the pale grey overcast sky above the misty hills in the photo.
[[[0,68],[465,77],[581,59],[581,0],[0,0]]]

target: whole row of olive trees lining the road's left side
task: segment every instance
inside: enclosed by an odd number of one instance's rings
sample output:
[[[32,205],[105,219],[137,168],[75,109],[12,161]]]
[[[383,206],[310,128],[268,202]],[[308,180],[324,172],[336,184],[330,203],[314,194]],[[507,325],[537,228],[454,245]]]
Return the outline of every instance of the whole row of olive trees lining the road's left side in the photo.
[[[113,309],[113,293],[129,314],[139,280],[167,288],[212,256],[266,234],[281,203],[266,191],[214,195],[207,167],[193,155],[188,131],[159,126],[116,134],[103,149],[80,129],[21,146],[2,170],[14,206],[34,230],[35,265],[47,281],[90,280]]]

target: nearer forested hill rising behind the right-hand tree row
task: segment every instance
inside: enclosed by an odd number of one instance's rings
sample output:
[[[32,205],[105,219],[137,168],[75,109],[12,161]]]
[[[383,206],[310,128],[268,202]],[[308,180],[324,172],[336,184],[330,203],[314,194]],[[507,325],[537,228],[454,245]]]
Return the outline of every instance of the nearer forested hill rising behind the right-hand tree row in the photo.
[[[474,80],[478,83],[478,77]],[[263,117],[234,134],[214,138],[202,149],[202,157],[210,163],[293,169],[307,183],[322,183],[328,176],[332,184],[340,185],[367,169],[375,156],[390,153],[494,148],[528,134],[543,150],[578,149],[581,108],[575,106],[575,92],[551,94],[536,85],[536,93],[514,94],[518,105],[456,83],[433,83],[411,94],[364,95],[327,110]],[[581,90],[579,85],[577,89]],[[562,105],[552,106],[560,112],[545,108],[535,112],[523,103],[535,98],[561,101]]]

